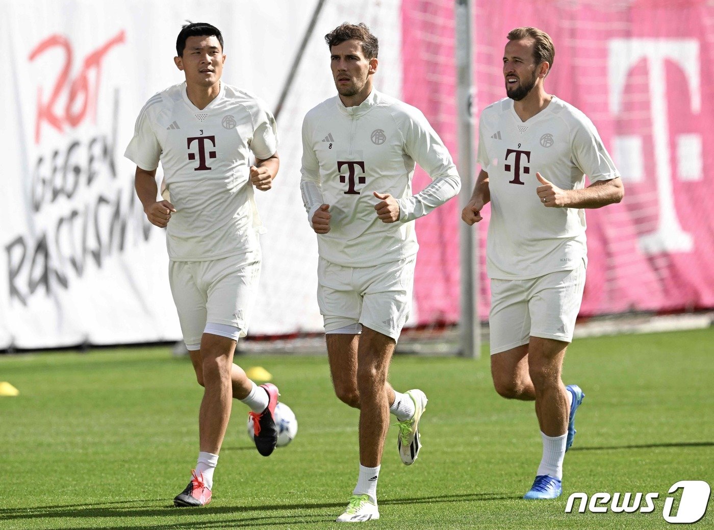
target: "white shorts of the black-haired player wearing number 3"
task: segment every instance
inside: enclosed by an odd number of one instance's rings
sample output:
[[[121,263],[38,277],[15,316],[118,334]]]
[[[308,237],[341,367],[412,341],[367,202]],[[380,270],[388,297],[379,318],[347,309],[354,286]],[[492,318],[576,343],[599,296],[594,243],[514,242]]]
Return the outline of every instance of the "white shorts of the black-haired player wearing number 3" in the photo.
[[[200,348],[206,324],[246,336],[261,273],[260,249],[211,261],[169,261],[169,284],[186,348]]]

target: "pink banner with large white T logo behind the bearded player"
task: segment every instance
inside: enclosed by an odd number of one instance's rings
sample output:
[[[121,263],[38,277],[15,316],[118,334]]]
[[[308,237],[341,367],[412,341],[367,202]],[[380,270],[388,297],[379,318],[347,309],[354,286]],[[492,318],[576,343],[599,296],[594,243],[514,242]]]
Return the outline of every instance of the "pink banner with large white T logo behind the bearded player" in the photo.
[[[453,1],[403,1],[404,99],[455,159]],[[506,34],[535,26],[555,43],[545,89],[593,120],[623,174],[625,199],[588,210],[582,315],[714,307],[714,5],[706,1],[475,0],[474,111],[505,96]],[[428,36],[428,38],[426,38]],[[428,177],[419,174],[416,189]],[[421,324],[458,319],[456,201],[418,221]],[[488,316],[486,219],[481,318]]]

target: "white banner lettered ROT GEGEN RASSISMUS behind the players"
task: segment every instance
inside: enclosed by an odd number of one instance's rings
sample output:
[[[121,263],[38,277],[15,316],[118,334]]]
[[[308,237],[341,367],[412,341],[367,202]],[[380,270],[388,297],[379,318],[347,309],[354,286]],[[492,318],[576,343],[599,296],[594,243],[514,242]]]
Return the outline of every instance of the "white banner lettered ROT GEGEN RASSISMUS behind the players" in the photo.
[[[306,5],[307,4],[307,5]],[[0,83],[0,349],[180,339],[164,231],[146,221],[122,154],[174,66],[186,20],[223,32],[223,80],[275,109],[317,2],[3,2],[13,58]],[[321,329],[317,249],[299,182],[301,122],[333,96],[323,35],[365,21],[380,37],[378,89],[399,96],[399,1],[326,2],[288,91],[281,171],[258,194],[263,275],[251,334]],[[159,171],[160,172],[160,171]]]

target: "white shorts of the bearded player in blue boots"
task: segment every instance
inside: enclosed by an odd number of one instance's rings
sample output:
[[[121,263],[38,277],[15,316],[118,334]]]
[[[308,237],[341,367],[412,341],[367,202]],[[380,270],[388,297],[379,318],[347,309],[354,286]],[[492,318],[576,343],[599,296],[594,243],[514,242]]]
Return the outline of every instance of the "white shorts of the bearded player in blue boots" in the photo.
[[[531,336],[573,340],[585,288],[585,264],[527,280],[491,279],[491,355],[528,344]]]

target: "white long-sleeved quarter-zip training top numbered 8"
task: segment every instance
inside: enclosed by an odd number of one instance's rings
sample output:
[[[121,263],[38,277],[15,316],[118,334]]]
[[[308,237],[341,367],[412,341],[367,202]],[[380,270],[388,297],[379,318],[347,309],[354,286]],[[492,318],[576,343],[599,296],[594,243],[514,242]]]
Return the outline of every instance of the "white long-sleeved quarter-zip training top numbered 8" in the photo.
[[[415,164],[433,182],[411,194]],[[414,219],[458,193],[461,181],[441,139],[418,109],[373,90],[361,105],[339,96],[303,121],[301,191],[308,216],[329,204],[330,231],[318,234],[320,256],[341,266],[373,266],[413,256]],[[373,195],[399,201],[400,219],[383,223]]]

